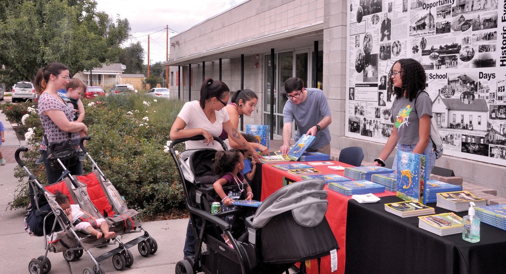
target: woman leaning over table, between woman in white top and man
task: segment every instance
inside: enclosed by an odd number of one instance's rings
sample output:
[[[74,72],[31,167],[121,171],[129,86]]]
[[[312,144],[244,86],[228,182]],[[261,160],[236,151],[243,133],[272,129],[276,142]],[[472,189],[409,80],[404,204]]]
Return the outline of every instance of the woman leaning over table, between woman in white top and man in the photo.
[[[225,106],[227,110],[228,116],[230,118],[230,122],[232,122],[232,126],[236,129],[239,128],[239,119],[242,118],[243,115],[250,116],[253,111],[255,111],[255,106],[258,103],[258,96],[254,91],[250,89],[238,90],[232,95],[231,102]],[[227,132],[225,130],[219,136],[222,140],[229,138]],[[243,149],[240,144],[235,142],[232,138],[229,138],[229,144],[232,148]],[[249,143],[253,148],[258,149],[264,155],[269,155],[269,148],[261,145],[257,142]]]

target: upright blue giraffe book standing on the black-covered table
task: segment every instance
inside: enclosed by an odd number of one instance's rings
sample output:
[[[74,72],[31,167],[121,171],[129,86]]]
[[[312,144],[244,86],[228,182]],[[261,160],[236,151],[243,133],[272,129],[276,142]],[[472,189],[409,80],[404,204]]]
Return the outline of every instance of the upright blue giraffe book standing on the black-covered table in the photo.
[[[426,156],[412,152],[397,151],[397,197],[404,201],[415,200],[427,204],[425,182],[427,176]]]

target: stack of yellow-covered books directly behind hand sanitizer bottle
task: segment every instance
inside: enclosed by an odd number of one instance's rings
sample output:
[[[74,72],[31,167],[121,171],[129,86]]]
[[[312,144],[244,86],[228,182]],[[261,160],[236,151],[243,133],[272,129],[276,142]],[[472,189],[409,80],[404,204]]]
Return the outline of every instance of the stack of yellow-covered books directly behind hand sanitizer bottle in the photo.
[[[471,194],[469,191],[441,192],[436,194],[437,207],[455,212],[462,212],[469,209],[469,202],[474,202],[477,207],[486,206],[487,201]]]

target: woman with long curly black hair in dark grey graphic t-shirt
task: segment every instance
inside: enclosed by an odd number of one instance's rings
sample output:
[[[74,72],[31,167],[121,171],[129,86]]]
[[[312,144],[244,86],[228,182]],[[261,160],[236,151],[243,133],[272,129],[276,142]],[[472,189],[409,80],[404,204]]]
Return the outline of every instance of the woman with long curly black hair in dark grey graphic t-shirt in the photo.
[[[427,156],[426,174],[430,175],[436,164],[436,152],[430,138],[432,99],[425,92],[426,75],[424,67],[416,60],[399,59],[389,73],[389,87],[393,87],[395,100],[392,103],[392,134],[375,166],[385,166],[385,160],[397,145],[397,151],[414,152]],[[397,169],[397,152],[392,165]]]

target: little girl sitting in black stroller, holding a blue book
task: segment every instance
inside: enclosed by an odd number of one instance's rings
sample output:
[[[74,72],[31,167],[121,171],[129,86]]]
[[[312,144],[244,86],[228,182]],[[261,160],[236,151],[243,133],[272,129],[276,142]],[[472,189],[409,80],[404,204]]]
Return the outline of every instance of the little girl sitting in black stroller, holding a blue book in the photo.
[[[220,175],[221,178],[213,184],[213,188],[220,196],[221,202],[223,204],[222,211],[225,212],[236,209],[237,206],[233,206],[232,202],[234,200],[239,200],[242,197],[245,197],[245,199],[242,198],[244,200],[251,201],[253,198],[251,187],[245,181],[244,175],[241,173],[241,171],[244,169],[244,158],[242,153],[235,148],[228,151],[218,151],[216,152],[215,160],[216,161],[213,165],[213,171],[215,174]],[[225,193],[223,186],[227,185],[237,185],[237,187],[229,190],[228,193]],[[244,195],[244,192],[246,192],[246,195]],[[225,221],[229,224],[233,224],[234,216],[229,215],[225,217]],[[225,243],[233,248],[232,244],[230,244],[230,240],[225,234],[223,234],[223,239],[225,240]]]

